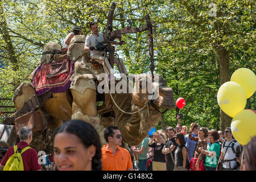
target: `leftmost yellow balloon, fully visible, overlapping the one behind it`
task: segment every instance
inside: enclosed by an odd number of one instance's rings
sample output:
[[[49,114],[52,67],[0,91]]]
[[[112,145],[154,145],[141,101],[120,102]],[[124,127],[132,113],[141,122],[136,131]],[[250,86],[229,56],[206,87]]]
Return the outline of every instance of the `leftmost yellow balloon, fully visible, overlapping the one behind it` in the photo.
[[[224,113],[233,118],[239,111],[245,109],[245,90],[237,82],[225,82],[218,89],[217,101]]]

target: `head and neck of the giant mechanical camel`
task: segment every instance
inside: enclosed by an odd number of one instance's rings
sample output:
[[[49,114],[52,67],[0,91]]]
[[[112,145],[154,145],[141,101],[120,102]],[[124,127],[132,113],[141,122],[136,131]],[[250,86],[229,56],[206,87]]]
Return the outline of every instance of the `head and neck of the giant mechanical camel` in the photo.
[[[132,83],[133,88],[130,88]],[[119,87],[118,84],[115,88]],[[124,142],[131,146],[140,144],[148,131],[159,123],[162,116],[159,109],[175,108],[173,91],[166,85],[166,80],[156,74],[153,81],[149,74],[133,75],[129,76],[129,93],[113,94],[113,100],[117,104],[113,104],[115,123],[122,133]],[[148,108],[149,100],[154,107],[150,105]]]

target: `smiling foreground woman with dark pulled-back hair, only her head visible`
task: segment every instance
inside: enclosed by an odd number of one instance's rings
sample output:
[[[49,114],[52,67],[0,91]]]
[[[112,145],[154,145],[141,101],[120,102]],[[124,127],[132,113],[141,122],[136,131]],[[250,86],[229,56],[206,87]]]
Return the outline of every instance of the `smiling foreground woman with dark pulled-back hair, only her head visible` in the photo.
[[[90,123],[70,120],[57,129],[53,160],[60,171],[100,171],[101,143]]]

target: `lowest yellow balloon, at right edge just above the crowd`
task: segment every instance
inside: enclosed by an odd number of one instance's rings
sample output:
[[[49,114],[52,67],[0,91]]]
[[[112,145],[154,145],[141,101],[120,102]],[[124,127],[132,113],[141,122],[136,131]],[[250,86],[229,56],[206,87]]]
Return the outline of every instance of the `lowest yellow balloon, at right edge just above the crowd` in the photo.
[[[245,145],[256,135],[256,114],[242,110],[232,119],[231,130],[238,143]]]

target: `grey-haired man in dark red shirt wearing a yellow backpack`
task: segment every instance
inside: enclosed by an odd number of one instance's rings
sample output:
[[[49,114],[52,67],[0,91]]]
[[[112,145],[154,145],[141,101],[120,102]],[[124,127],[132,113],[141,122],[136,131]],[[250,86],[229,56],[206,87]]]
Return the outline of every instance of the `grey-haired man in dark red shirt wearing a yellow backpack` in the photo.
[[[0,171],[41,171],[38,154],[29,147],[32,142],[32,130],[28,126],[19,130],[20,142],[10,147],[0,164]]]

